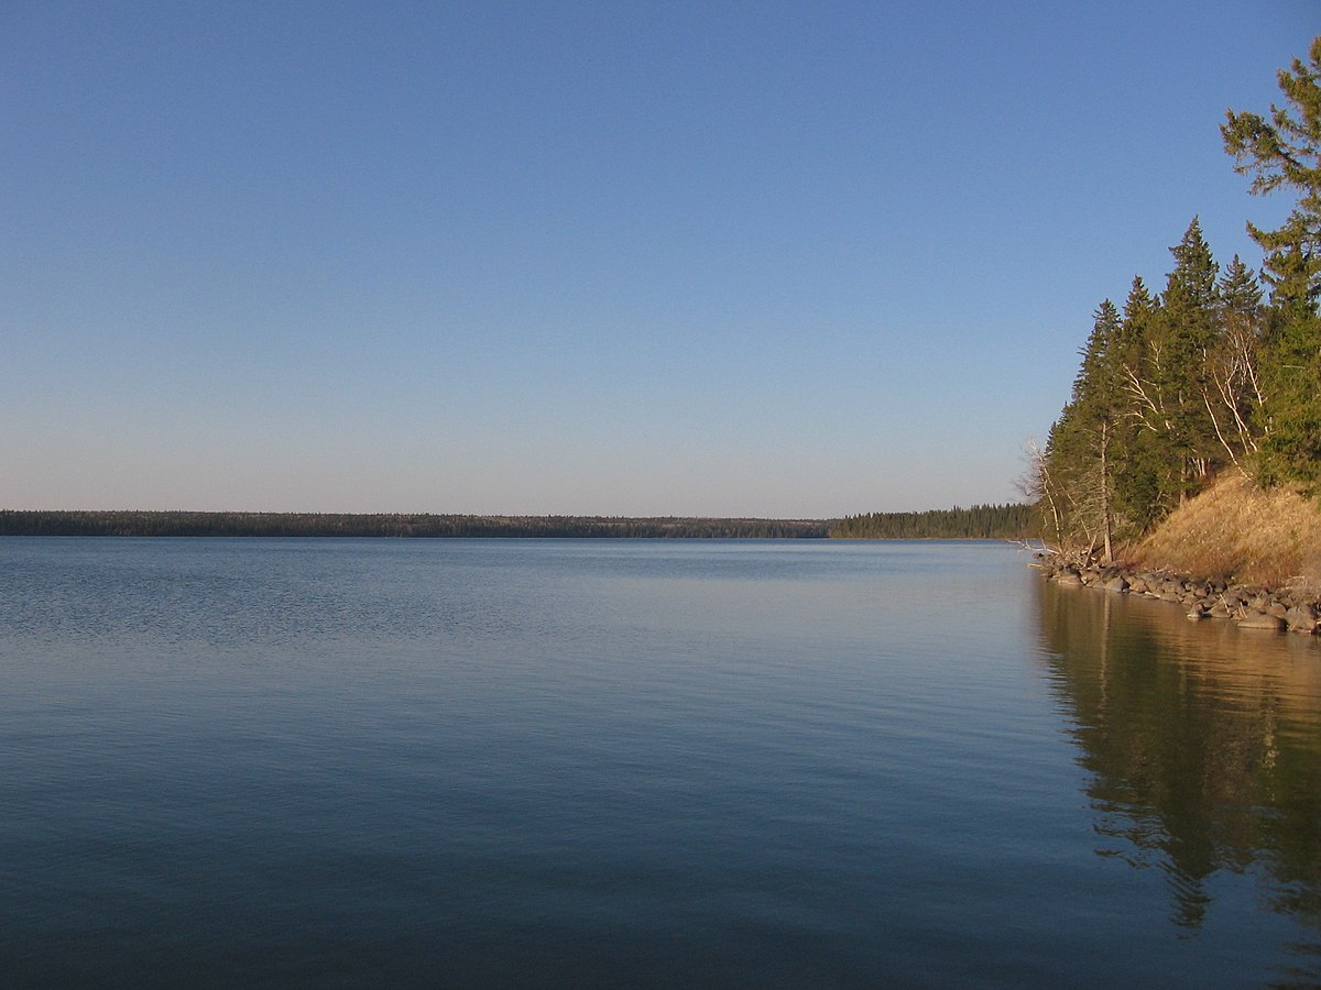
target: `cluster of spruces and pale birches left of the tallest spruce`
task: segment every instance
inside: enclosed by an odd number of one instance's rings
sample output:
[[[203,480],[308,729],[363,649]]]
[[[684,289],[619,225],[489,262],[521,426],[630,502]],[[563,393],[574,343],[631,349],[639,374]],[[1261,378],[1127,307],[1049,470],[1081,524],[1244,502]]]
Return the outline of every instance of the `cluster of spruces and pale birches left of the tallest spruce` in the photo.
[[[1106,557],[1221,470],[1246,471],[1266,432],[1260,285],[1236,257],[1221,276],[1196,218],[1170,253],[1160,297],[1137,277],[1123,314],[1096,309],[1041,466],[1059,539]]]

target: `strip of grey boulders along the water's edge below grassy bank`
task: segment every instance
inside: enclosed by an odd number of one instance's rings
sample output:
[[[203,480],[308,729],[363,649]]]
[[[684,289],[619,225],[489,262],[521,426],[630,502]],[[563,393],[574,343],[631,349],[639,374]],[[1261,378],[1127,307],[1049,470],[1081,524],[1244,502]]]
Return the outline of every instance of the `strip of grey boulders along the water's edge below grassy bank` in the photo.
[[[1172,602],[1188,618],[1229,619],[1239,628],[1276,632],[1321,632],[1321,589],[1300,582],[1280,589],[1194,581],[1184,574],[1100,564],[1077,564],[1053,553],[1038,553],[1033,562],[1048,581],[1061,586],[1086,586],[1111,594],[1136,594]]]

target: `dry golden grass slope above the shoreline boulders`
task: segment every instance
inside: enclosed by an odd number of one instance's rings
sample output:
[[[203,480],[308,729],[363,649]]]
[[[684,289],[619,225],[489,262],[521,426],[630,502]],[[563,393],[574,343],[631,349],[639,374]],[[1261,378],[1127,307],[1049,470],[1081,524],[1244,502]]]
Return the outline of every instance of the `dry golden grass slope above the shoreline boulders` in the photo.
[[[1240,585],[1321,582],[1321,507],[1226,474],[1170,513],[1129,561]]]

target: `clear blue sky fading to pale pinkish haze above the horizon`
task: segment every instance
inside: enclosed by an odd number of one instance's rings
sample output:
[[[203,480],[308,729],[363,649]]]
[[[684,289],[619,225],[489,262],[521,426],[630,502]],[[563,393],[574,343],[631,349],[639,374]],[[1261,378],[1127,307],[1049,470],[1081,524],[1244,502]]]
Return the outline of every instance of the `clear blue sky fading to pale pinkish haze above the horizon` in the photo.
[[[0,508],[1017,498],[1260,3],[0,5]]]

